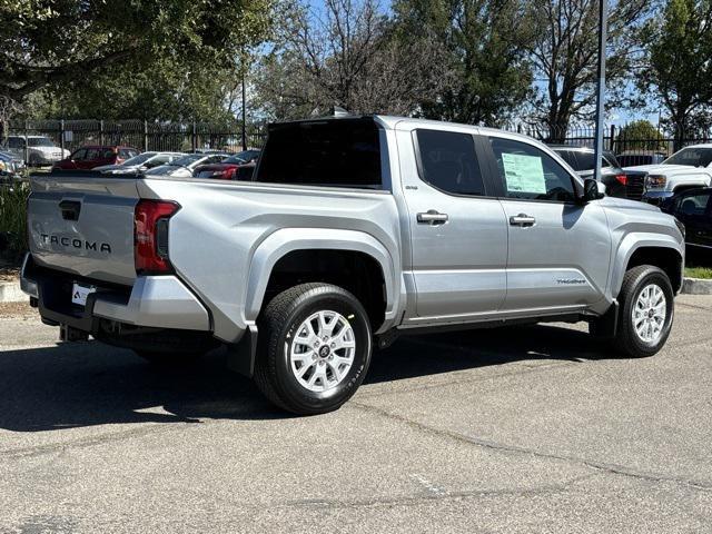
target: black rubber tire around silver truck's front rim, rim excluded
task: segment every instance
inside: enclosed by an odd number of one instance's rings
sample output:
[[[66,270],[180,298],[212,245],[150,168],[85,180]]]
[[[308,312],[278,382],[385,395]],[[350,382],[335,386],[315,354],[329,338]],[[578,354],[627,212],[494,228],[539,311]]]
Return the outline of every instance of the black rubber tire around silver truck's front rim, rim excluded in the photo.
[[[652,342],[642,339],[633,324],[633,307],[641,291],[651,284],[660,287],[665,296],[665,319],[660,336]],[[656,354],[668,340],[674,317],[674,293],[668,275],[657,267],[641,265],[625,273],[619,294],[620,317],[614,347],[623,355],[640,358]]]

